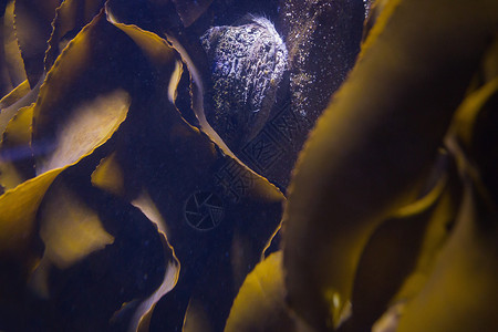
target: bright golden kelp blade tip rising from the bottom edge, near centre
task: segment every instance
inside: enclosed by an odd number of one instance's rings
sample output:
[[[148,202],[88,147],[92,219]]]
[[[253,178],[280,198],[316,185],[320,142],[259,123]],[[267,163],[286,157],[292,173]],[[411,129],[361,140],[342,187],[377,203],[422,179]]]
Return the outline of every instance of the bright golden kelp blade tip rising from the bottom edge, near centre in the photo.
[[[231,307],[226,332],[299,331],[286,304],[281,264],[282,252],[277,251],[247,276]]]

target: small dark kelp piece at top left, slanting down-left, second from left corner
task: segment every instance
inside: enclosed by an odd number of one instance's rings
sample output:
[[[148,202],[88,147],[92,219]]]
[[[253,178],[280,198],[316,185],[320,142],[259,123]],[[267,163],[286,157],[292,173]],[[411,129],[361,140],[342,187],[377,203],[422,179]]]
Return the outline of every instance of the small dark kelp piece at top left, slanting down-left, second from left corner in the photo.
[[[104,0],[64,0],[55,10],[52,22],[52,33],[48,41],[44,59],[45,71],[50,70],[55,59],[76,35],[104,7]]]

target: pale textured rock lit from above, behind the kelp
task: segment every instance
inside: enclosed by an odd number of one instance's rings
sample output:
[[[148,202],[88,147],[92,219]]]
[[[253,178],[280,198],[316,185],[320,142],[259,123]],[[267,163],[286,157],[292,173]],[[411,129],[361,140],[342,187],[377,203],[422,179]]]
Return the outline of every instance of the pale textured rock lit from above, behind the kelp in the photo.
[[[205,112],[234,149],[252,139],[268,120],[287,69],[287,49],[266,18],[246,17],[239,25],[214,27],[201,37],[211,65]]]

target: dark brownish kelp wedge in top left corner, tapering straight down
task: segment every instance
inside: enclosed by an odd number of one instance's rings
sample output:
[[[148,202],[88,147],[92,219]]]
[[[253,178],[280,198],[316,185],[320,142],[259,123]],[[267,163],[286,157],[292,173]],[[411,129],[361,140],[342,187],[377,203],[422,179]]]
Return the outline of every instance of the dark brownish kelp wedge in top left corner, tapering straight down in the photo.
[[[15,0],[14,29],[30,86],[34,87],[43,73],[46,41],[52,33],[55,9],[62,0]]]

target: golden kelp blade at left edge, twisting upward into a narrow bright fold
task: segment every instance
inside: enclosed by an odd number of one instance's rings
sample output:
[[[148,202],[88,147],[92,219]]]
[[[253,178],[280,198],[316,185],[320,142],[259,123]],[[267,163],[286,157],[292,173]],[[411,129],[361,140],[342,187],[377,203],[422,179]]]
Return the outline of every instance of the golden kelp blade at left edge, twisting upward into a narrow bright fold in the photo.
[[[116,113],[121,114],[116,114],[115,118],[107,117],[106,121],[111,120],[112,123],[118,124],[126,116],[126,112],[127,108],[118,107]],[[100,138],[87,137],[95,145],[87,146],[86,151],[81,149],[82,155],[73,164],[108,139],[116,128],[117,125],[112,125],[102,128],[102,132],[93,132]],[[107,132],[104,132],[105,129]],[[6,308],[10,308],[7,312],[14,311],[15,314],[9,318],[9,322],[21,312],[22,303],[25,300],[22,295],[24,282],[41,255],[34,219],[38,207],[52,181],[69,166],[71,165],[66,164],[60,168],[48,170],[0,196],[0,209],[2,210],[0,217],[0,264],[2,267],[0,292],[2,301],[0,305],[2,311]]]

